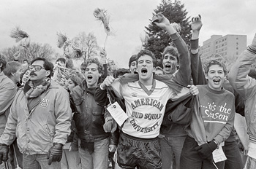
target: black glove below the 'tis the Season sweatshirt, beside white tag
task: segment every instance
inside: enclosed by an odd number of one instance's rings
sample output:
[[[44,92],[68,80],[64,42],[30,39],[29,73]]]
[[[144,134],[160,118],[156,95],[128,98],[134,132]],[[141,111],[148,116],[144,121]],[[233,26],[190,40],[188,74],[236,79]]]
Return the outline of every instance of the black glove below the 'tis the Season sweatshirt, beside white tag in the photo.
[[[212,152],[214,152],[215,149],[217,149],[217,144],[215,144],[214,141],[195,147],[195,150],[197,150],[199,156],[202,159],[209,160],[210,162],[213,161]]]

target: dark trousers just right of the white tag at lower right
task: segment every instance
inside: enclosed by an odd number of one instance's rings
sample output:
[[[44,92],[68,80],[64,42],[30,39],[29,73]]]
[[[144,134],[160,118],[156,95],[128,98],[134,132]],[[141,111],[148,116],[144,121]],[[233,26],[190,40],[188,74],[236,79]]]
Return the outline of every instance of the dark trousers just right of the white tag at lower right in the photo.
[[[222,148],[227,157],[227,160],[225,160],[225,169],[242,169],[243,161],[237,142],[225,141],[225,146],[222,146]]]

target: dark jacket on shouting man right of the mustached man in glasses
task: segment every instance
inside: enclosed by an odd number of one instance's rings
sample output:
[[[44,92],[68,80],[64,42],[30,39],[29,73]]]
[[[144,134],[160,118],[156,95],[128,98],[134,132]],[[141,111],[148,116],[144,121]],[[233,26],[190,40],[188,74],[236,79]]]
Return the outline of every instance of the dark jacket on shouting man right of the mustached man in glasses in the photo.
[[[86,80],[72,90],[72,98],[77,108],[74,114],[75,126],[78,130],[78,138],[84,142],[100,141],[110,136],[105,133],[105,108],[94,101],[95,87],[87,88]],[[118,137],[112,135],[110,144],[117,145]]]

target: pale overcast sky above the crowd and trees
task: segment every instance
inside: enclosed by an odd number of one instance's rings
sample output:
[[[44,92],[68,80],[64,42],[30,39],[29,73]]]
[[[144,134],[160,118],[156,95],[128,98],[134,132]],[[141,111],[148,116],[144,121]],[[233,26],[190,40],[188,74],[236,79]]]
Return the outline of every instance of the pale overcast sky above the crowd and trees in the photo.
[[[103,25],[93,15],[94,9],[106,9],[115,36],[106,44],[108,58],[128,67],[129,57],[141,46],[140,34],[148,26],[160,0],[0,0],[0,50],[15,45],[10,31],[20,26],[31,42],[50,44],[56,52],[57,32],[69,39],[84,31],[94,32],[99,46],[105,42]],[[256,32],[255,0],[181,0],[188,17],[200,14],[203,28],[200,44],[213,34],[247,35],[247,44]]]

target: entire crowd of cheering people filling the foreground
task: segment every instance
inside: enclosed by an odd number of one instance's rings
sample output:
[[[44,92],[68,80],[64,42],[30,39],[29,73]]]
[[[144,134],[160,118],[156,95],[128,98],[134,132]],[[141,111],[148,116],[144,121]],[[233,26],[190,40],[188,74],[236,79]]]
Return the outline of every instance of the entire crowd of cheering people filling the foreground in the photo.
[[[200,15],[189,47],[165,16],[152,22],[173,41],[162,68],[141,50],[108,71],[102,50],[60,82],[67,58],[0,55],[0,169],[256,168],[256,34],[227,70],[200,60]]]

